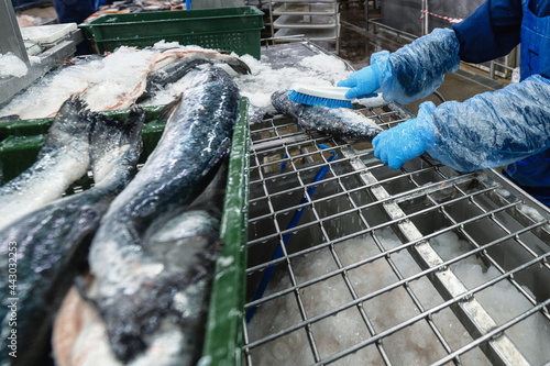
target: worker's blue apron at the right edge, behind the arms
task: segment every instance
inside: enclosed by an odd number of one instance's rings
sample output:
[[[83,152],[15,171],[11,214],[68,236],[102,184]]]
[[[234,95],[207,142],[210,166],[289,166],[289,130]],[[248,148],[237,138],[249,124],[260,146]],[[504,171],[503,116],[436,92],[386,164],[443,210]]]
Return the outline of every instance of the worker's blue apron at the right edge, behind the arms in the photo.
[[[534,0],[522,0],[521,80],[535,74],[549,77],[550,16],[539,18],[529,9]],[[549,106],[550,108],[550,106]],[[505,170],[512,180],[542,203],[550,206],[550,148],[510,164]]]

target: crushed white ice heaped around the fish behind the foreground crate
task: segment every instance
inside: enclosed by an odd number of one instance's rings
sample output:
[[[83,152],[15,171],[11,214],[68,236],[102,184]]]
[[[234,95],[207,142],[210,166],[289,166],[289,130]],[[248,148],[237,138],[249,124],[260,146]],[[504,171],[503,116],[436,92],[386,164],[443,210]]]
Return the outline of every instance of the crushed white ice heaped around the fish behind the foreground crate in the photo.
[[[155,52],[174,47],[183,51],[212,51],[195,45],[180,46],[177,42],[165,41],[145,49],[121,46],[101,59],[84,60],[85,65],[79,67],[72,66],[62,71],[51,73],[28,92],[14,98],[0,111],[0,115],[18,114],[23,120],[54,115],[63,101],[73,93],[82,95],[92,110],[105,109],[118,98],[117,96],[132,95],[136,90],[136,82],[147,73]],[[292,89],[295,84],[333,86],[348,78],[351,73],[341,59],[322,54],[305,57],[296,63],[295,67],[279,69],[272,68],[270,58],[265,55],[262,56],[262,60],[251,55],[239,58],[249,65],[250,75],[238,75],[224,64],[217,66],[227,70],[237,82],[241,96],[248,97],[251,106],[260,109],[273,110],[271,96],[274,91]],[[38,59],[32,58],[31,63]],[[57,82],[54,84],[53,80]],[[109,81],[109,87],[102,87],[102,81]],[[169,103],[185,87],[185,80],[166,86],[144,106]],[[40,108],[29,108],[30,103]]]

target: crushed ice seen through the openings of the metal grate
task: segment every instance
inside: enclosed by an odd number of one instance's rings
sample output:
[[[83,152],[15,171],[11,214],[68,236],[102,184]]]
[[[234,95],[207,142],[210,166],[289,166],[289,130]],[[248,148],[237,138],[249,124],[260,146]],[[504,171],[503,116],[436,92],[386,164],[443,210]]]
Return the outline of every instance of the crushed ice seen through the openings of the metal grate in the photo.
[[[386,249],[402,245],[402,242],[389,229],[380,231],[377,239]],[[466,242],[460,240],[452,232],[440,235],[431,242],[443,258],[452,258],[472,249]],[[370,235],[334,244],[333,249],[343,266],[380,254]],[[410,277],[421,271],[407,251],[394,253],[391,258],[404,277]],[[308,319],[330,312],[352,301],[353,296],[341,275],[332,276],[314,285],[300,286],[300,284],[338,269],[333,255],[328,248],[310,253],[307,257],[293,259],[292,265],[300,300]],[[464,281],[466,287],[486,282],[498,275],[495,268],[487,269],[475,256],[461,260],[459,265],[452,267],[452,270]],[[398,280],[386,257],[350,269],[345,275],[358,297],[382,290]],[[427,277],[410,281],[408,285],[425,310],[443,302]],[[272,278],[265,296],[288,288],[292,288],[289,276],[285,270],[280,270]],[[475,298],[499,324],[529,307],[527,299],[507,280],[499,281],[476,293]],[[378,293],[362,302],[362,306],[376,333],[392,329],[420,312],[405,287]],[[472,337],[450,308],[438,311],[430,319],[452,350],[458,350],[472,342]],[[289,292],[286,296],[279,296],[258,307],[248,325],[250,342],[288,329],[301,321],[302,317],[296,302],[296,293]],[[372,336],[358,307],[348,308],[312,323],[311,334],[321,358],[352,347]],[[528,355],[531,363],[540,364],[550,357],[550,351],[544,346],[550,342],[549,322],[541,314],[537,313],[528,321],[516,324],[507,330],[506,334],[526,356]],[[447,355],[441,342],[426,321],[418,321],[384,337],[382,345],[389,361],[395,365],[426,365]],[[315,363],[310,342],[304,328],[252,348],[251,357],[254,364],[258,365]],[[491,365],[480,348],[473,348],[461,355],[460,358],[464,365]],[[351,365],[384,365],[375,344],[361,348],[341,361],[342,364]]]

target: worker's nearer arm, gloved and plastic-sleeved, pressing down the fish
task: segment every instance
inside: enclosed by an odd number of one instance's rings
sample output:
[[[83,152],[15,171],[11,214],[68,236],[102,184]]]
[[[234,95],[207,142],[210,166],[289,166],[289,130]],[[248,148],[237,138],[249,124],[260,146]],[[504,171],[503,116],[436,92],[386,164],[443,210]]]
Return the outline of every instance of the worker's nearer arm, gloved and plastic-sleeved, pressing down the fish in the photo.
[[[464,102],[425,102],[373,140],[392,168],[428,152],[460,171],[507,165],[550,147],[550,80],[535,75]]]

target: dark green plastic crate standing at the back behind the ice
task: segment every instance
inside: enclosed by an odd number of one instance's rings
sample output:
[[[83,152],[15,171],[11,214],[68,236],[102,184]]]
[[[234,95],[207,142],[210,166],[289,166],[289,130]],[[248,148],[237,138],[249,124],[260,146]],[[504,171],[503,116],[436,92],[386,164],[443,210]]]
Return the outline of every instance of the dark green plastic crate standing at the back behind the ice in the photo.
[[[255,7],[100,15],[79,25],[97,51],[152,46],[158,41],[252,55],[260,59],[264,13]]]

